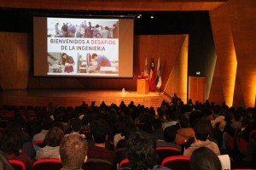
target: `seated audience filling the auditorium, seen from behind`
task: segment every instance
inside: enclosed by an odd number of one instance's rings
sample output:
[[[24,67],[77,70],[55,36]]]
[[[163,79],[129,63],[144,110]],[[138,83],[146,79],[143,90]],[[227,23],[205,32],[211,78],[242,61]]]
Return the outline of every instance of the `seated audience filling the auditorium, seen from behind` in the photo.
[[[173,105],[163,100],[156,110],[133,101],[129,105],[123,101],[119,105],[88,105],[83,101],[74,108],[51,103],[49,107],[3,105],[0,169],[12,169],[8,160],[15,159],[32,170],[33,163],[44,158],[60,159],[63,170],[82,169],[90,158],[107,160],[113,169],[119,169],[125,158],[129,162],[122,170],[172,169],[160,166],[156,148],[162,146],[189,156],[190,169],[222,169],[218,156],[231,153],[227,138],[235,134],[236,139],[247,142],[247,150],[241,155],[241,146],[235,144],[232,153],[253,167],[256,135],[250,133],[256,130],[255,108],[236,109],[208,100],[195,105],[191,100],[188,105],[177,101]],[[237,133],[238,129],[242,131]]]

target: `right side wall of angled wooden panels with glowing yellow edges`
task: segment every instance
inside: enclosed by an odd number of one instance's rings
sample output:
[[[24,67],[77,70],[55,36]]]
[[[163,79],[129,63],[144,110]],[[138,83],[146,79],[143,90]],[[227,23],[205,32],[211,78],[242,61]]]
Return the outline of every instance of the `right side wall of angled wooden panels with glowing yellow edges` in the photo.
[[[217,64],[209,99],[254,107],[256,97],[256,1],[230,0],[210,12]]]

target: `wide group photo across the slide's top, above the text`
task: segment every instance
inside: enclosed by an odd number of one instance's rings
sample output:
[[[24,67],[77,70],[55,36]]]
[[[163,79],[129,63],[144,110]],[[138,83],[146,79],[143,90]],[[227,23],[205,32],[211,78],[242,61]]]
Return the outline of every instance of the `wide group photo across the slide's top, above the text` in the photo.
[[[118,20],[49,18],[48,37],[118,38]]]

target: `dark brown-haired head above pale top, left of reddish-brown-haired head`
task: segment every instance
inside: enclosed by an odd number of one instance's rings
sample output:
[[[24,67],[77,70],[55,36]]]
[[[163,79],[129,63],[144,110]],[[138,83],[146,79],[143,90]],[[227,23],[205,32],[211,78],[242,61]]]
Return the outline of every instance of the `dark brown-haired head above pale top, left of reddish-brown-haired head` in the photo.
[[[61,139],[64,136],[64,132],[60,127],[52,127],[46,134],[44,143],[51,147],[59,146],[61,144]]]

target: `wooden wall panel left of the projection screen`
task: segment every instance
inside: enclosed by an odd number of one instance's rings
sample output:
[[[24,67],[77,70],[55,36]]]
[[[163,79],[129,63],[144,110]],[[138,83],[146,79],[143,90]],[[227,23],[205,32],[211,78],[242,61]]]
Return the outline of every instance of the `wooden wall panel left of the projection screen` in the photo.
[[[23,89],[27,86],[29,35],[26,33],[0,33],[0,84],[3,89]]]

